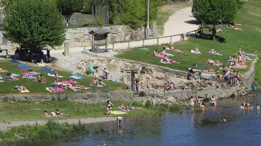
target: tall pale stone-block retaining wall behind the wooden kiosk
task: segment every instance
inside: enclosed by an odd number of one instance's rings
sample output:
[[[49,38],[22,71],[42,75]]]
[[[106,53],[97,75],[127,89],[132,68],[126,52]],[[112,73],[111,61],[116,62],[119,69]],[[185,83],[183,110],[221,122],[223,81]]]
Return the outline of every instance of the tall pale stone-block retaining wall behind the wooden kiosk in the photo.
[[[97,28],[70,28],[66,29],[66,37],[64,42],[69,42],[70,47],[89,47],[91,46],[91,35],[88,32]],[[108,42],[127,41],[127,40],[141,40],[145,38],[145,27],[131,28],[128,25],[117,25],[103,27],[102,29],[109,29],[111,33],[108,35]],[[151,24],[149,29],[150,37],[157,37],[157,24]],[[63,45],[56,47],[56,49],[63,49]]]

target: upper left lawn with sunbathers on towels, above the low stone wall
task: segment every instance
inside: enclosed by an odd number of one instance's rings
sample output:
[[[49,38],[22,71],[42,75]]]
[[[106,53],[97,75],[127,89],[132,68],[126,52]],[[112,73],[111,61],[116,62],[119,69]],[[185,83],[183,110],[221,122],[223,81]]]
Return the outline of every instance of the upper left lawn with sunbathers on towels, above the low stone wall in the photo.
[[[0,68],[4,69],[4,70],[8,70],[9,73],[15,73],[18,75],[22,74],[22,71],[25,70],[23,68],[18,67],[18,64],[22,64],[22,63],[12,63],[9,62],[9,60],[0,60]],[[28,66],[28,65],[27,65]],[[27,78],[22,78],[19,81],[9,81],[7,79],[3,79],[3,83],[0,83],[0,95],[15,95],[15,94],[63,94],[63,93],[86,93],[86,92],[108,92],[108,91],[113,91],[115,89],[117,89],[118,87],[124,87],[126,85],[121,85],[119,83],[115,83],[112,81],[105,81],[104,83],[109,84],[109,86],[106,87],[95,87],[95,86],[90,86],[90,82],[93,81],[93,77],[90,76],[84,76],[85,78],[83,79],[73,79],[73,81],[77,81],[79,83],[79,85],[84,85],[87,87],[91,87],[92,89],[87,89],[87,90],[81,90],[81,91],[64,91],[64,92],[49,92],[47,90],[45,90],[46,87],[49,87],[49,85],[53,85],[52,83],[54,83],[55,78],[54,77],[50,77],[50,76],[46,76],[48,72],[42,71],[39,69],[39,67],[34,67],[34,66],[30,66],[31,69],[33,71],[36,71],[38,73],[42,73],[43,76],[47,79],[47,83],[37,83],[37,82],[33,82],[33,79],[27,79]],[[52,69],[51,67],[41,67],[41,68],[49,68]],[[55,69],[56,70],[56,69]],[[60,76],[63,76],[63,78],[59,78],[59,81],[67,81],[67,79],[69,79],[70,77],[70,72],[66,72],[66,71],[62,71],[62,70],[56,70],[58,71]],[[4,73],[0,73],[0,75],[4,78],[6,77],[8,72],[4,72]],[[51,74],[54,74],[54,72],[50,72]],[[35,77],[38,78],[39,75],[35,75]],[[21,77],[18,77],[21,78]],[[23,86],[26,87],[26,89],[28,89],[30,91],[30,93],[21,93],[20,91],[18,91],[17,89],[15,89],[15,86],[20,86],[20,84],[23,84]]]

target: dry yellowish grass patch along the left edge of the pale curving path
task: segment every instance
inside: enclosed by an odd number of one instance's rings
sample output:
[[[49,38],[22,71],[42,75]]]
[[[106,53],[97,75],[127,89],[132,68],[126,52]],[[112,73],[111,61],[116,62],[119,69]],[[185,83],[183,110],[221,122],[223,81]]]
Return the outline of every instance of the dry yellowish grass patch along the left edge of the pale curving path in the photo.
[[[174,14],[177,10],[191,6],[191,2],[187,1],[175,1],[171,4],[164,5],[159,8],[157,12],[157,27],[158,35],[161,36],[164,33],[164,25],[168,21],[168,18]]]

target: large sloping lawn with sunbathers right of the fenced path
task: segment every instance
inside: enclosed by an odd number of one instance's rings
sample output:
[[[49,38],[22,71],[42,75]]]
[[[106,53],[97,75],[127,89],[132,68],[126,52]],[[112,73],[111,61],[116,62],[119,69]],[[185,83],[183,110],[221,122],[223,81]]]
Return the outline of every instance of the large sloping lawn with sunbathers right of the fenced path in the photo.
[[[147,48],[149,48],[149,51],[134,48],[120,53],[115,57],[165,66],[171,69],[182,71],[186,71],[187,68],[193,67],[193,63],[210,67],[214,70],[219,68],[216,66],[205,65],[209,57],[212,57],[213,60],[219,60],[222,64],[229,66],[229,64],[227,64],[227,60],[225,59],[228,56],[233,57],[233,55],[237,53],[239,48],[241,48],[246,53],[255,53],[256,51],[260,50],[261,19],[258,15],[260,6],[261,3],[258,0],[246,1],[244,8],[239,10],[235,23],[242,24],[242,26],[239,26],[239,28],[242,28],[242,31],[229,29],[223,26],[224,33],[217,33],[217,40],[210,40],[211,34],[209,33],[208,29],[204,29],[205,34],[202,36],[201,39],[190,38],[187,41],[177,42],[175,44],[175,47],[184,52],[176,53],[170,50],[167,51],[167,53],[175,55],[174,57],[170,57],[170,59],[180,62],[180,64],[163,64],[159,62],[159,58],[152,57],[151,54],[155,49],[160,52],[160,50],[162,50],[162,47],[168,46],[168,44],[146,46]],[[220,26],[217,26],[217,28],[220,28]],[[193,54],[187,51],[193,50],[195,45],[199,46],[201,55]],[[214,48],[218,53],[223,54],[223,56],[209,54],[208,52],[212,48]],[[253,57],[250,58],[253,59]],[[251,61],[249,61],[247,65],[251,65]],[[244,69],[235,70],[239,70],[241,73],[245,73],[247,71]]]

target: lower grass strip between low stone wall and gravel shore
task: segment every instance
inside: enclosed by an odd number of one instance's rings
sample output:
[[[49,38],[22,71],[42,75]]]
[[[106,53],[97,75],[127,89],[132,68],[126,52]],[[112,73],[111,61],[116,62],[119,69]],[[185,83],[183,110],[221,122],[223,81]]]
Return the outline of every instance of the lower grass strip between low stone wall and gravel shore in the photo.
[[[126,102],[113,102],[114,109],[122,104],[129,105],[129,107],[135,107],[135,111],[129,111],[128,114],[122,114],[122,117],[133,116],[136,114],[153,114],[154,110],[151,109],[138,109],[137,107],[142,107],[143,105],[139,102],[134,102],[132,104]],[[53,100],[53,101],[17,101],[17,102],[3,102],[0,103],[0,121],[2,122],[12,122],[12,121],[23,121],[23,120],[47,120],[50,118],[43,117],[44,110],[48,113],[55,112],[59,109],[64,114],[70,114],[71,117],[57,117],[52,118],[55,120],[61,119],[78,119],[78,118],[96,118],[96,117],[108,117],[105,115],[107,103],[102,104],[82,104],[77,102],[71,102],[67,100]],[[112,117],[118,117],[119,115],[111,115]]]

